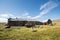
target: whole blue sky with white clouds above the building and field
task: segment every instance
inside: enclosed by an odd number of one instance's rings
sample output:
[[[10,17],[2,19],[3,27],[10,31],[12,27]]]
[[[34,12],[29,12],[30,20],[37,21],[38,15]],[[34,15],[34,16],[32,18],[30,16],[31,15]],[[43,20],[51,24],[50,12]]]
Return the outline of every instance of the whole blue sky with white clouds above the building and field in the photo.
[[[0,0],[0,21],[9,17],[60,19],[60,0]]]

